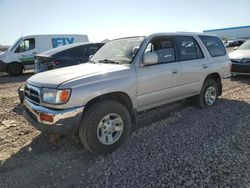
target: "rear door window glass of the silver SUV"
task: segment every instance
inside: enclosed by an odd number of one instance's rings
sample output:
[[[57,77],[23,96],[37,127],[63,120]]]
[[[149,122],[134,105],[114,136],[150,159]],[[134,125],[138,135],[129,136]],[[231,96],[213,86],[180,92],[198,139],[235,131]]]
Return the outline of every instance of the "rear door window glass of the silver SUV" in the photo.
[[[200,46],[193,37],[178,36],[175,37],[178,54],[181,61],[203,58]]]

